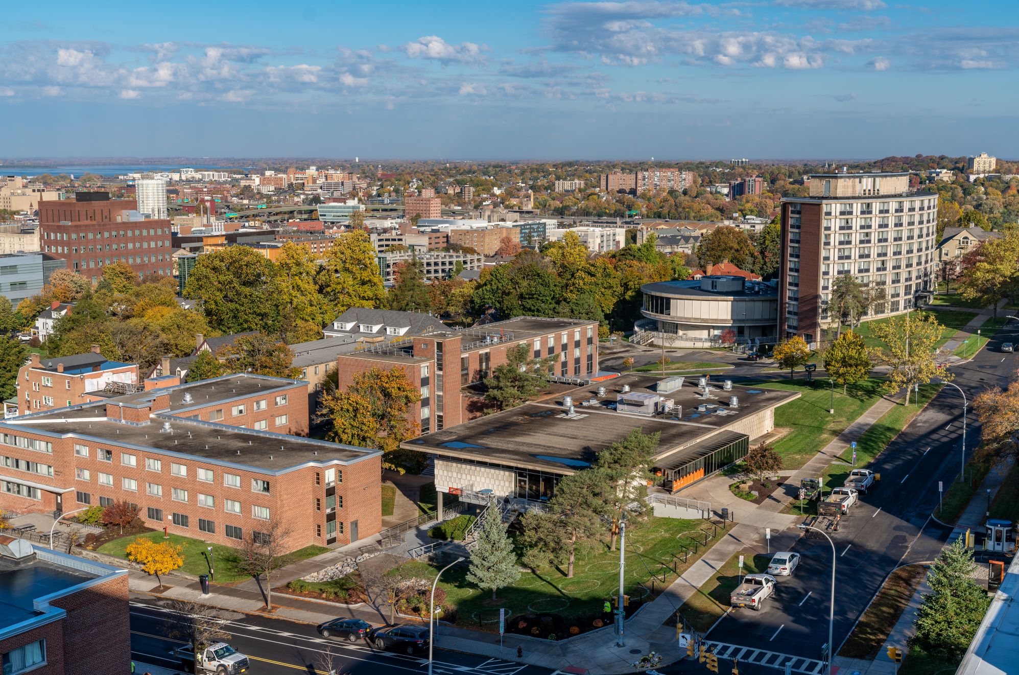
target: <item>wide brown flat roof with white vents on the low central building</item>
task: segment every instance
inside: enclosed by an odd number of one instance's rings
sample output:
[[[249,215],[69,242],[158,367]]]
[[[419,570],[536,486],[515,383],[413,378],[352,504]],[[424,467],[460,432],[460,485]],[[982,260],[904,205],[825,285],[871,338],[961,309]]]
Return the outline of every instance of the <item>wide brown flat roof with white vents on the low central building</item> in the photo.
[[[702,399],[695,376],[687,377],[682,388],[660,395],[674,401],[676,407],[669,413],[615,412],[615,399],[623,385],[628,385],[632,394],[657,394],[658,380],[652,375],[631,373],[568,391],[565,396],[573,398],[573,418],[567,417],[560,395],[554,402],[527,403],[401,445],[443,457],[573,473],[592,464],[604,448],[640,429],[661,434],[657,458],[667,462],[676,459],[674,453],[800,397],[798,392],[736,385],[723,391],[723,378],[715,376],[710,380],[712,398]],[[605,386],[605,396],[598,396],[599,385]],[[731,396],[738,397],[738,407],[729,405]],[[591,400],[593,405],[583,405]],[[701,405],[704,410],[699,410]]]

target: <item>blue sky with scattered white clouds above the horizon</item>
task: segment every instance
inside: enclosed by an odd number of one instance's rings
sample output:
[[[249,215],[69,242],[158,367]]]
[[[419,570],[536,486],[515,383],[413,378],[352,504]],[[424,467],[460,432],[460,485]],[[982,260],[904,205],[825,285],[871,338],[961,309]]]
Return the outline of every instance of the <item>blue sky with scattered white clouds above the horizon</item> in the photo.
[[[0,156],[1019,157],[1019,3],[54,0]]]

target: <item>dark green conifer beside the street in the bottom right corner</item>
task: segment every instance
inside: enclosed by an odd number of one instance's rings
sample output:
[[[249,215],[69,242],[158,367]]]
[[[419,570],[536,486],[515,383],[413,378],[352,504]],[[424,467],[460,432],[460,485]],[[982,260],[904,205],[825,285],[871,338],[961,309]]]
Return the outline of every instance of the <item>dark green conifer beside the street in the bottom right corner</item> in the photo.
[[[927,575],[932,592],[923,596],[911,644],[950,660],[966,653],[990,604],[972,579],[975,571],[973,554],[962,538],[942,551]]]

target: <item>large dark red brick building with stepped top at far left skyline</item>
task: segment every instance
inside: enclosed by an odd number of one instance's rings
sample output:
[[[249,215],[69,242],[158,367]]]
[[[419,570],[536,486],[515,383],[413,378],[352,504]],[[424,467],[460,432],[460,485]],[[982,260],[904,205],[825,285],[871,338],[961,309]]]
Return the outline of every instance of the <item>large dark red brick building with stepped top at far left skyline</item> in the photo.
[[[131,199],[76,193],[74,199],[39,203],[39,237],[45,253],[93,281],[105,265],[127,263],[145,274],[173,274],[170,221],[144,219]]]

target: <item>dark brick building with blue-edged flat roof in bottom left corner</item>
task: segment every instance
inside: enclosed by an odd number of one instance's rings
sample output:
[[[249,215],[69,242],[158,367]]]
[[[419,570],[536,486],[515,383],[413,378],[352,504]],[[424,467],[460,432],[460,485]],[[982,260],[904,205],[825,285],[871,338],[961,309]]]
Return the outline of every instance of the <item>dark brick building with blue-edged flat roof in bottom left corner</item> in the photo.
[[[0,598],[5,674],[131,671],[127,570],[0,535]]]

